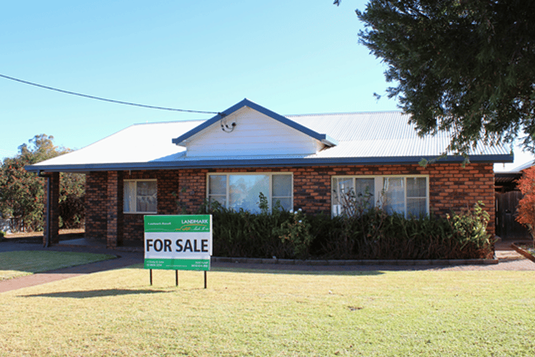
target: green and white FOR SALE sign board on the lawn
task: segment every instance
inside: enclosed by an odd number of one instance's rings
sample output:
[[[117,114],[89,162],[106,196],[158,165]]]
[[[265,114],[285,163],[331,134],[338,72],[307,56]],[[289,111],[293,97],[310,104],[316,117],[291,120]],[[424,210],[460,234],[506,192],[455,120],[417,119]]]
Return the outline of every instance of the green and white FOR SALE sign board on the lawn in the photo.
[[[145,216],[146,269],[210,270],[212,216]]]

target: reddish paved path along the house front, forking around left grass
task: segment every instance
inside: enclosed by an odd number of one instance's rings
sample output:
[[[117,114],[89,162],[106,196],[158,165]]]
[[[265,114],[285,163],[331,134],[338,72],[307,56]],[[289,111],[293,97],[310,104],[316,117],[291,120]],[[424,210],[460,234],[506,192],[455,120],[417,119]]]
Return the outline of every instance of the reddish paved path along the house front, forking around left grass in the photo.
[[[79,243],[79,242],[78,242]],[[347,266],[311,266],[311,265],[284,265],[284,264],[255,264],[255,263],[212,263],[213,268],[245,268],[259,270],[288,270],[288,271],[535,271],[535,263],[530,261],[510,247],[511,242],[496,243],[496,258],[499,263],[473,264],[473,265],[347,265]],[[98,271],[124,268],[137,263],[143,263],[141,251],[121,251],[106,249],[98,246],[85,246],[68,241],[59,246],[44,248],[35,243],[11,243],[1,242],[0,252],[4,251],[79,251],[86,253],[106,253],[117,256],[108,261],[98,261],[82,266],[61,268],[45,273],[36,273],[30,276],[22,276],[9,280],[0,281],[0,293],[19,288],[41,285],[51,281],[58,281],[73,276],[80,276]]]

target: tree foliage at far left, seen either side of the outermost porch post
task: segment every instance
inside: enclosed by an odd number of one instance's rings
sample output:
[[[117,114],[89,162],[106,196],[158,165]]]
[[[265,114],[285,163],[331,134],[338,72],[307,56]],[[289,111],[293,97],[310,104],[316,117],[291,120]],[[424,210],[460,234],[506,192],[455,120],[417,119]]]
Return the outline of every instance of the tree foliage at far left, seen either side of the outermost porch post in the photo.
[[[15,231],[36,231],[44,226],[44,178],[24,166],[51,159],[69,150],[54,146],[54,137],[36,135],[19,146],[19,154],[0,166],[0,213],[11,218]],[[60,226],[74,228],[83,223],[85,178],[81,174],[60,176]]]

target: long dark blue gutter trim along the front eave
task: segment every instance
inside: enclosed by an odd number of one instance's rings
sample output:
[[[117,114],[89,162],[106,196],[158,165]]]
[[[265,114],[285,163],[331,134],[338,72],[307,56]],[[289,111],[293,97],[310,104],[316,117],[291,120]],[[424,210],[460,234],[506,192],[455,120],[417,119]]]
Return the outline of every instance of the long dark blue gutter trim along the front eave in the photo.
[[[143,163],[121,164],[83,164],[83,165],[31,165],[26,166],[30,172],[88,172],[88,171],[126,171],[126,170],[165,170],[165,169],[232,169],[246,167],[276,166],[340,166],[340,165],[394,165],[418,164],[422,156],[340,158],[340,159],[250,159],[250,160],[198,160],[198,161],[152,161]],[[436,159],[427,157],[427,160]],[[462,156],[447,156],[437,161],[438,164],[460,164]],[[470,158],[472,163],[510,163],[513,156],[480,155]]]

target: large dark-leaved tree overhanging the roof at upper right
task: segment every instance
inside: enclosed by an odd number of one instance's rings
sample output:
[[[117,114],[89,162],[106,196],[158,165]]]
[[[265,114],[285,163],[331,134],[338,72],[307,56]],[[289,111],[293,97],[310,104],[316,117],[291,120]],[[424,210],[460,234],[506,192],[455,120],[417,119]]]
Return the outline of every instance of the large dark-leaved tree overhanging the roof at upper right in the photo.
[[[535,1],[370,0],[356,12],[419,134],[451,130],[458,152],[517,137],[534,149]]]

